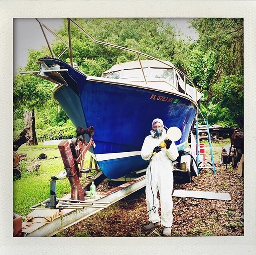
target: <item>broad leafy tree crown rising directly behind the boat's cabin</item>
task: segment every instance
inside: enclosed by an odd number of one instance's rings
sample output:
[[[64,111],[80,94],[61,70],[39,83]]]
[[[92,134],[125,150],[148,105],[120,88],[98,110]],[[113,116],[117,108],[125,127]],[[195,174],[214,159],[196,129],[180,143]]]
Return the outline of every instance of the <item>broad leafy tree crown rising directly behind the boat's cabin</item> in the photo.
[[[178,63],[177,59],[174,58],[175,52],[178,52],[177,48],[184,45],[183,40],[178,37],[176,28],[160,19],[102,18],[74,20],[96,40],[132,48],[156,58],[174,61],[174,64]],[[68,42],[66,20],[64,20],[64,28],[58,31],[58,35]],[[92,42],[72,25],[72,22],[71,37],[74,62],[86,74],[100,76],[102,72],[114,64],[137,60],[134,53]],[[52,48],[58,54],[64,47],[64,44],[56,40]],[[69,61],[69,53],[65,52],[61,59]]]

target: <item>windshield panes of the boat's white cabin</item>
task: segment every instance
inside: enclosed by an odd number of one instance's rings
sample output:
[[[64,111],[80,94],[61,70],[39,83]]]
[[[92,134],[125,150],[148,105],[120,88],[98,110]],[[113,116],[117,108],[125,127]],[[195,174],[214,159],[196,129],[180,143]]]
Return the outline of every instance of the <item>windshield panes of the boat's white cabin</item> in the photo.
[[[166,79],[170,84],[174,83],[174,71],[172,68],[143,68],[146,78],[153,79]],[[105,78],[112,79],[131,79],[131,78],[143,78],[142,70],[138,69],[126,69],[108,74],[103,74]]]

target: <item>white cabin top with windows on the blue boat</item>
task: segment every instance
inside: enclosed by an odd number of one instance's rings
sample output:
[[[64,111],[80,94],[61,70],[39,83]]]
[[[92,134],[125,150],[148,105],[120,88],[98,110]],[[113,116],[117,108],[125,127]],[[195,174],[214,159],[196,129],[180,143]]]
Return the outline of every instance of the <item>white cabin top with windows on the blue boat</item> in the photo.
[[[187,84],[187,82],[185,85],[179,71],[176,70],[171,62],[162,62],[157,60],[141,60],[142,68],[138,60],[125,62],[112,66],[102,74],[101,78],[89,78],[102,81],[112,80],[113,82],[126,83],[154,90],[187,94],[196,102],[196,99],[198,100],[202,95],[195,88]]]

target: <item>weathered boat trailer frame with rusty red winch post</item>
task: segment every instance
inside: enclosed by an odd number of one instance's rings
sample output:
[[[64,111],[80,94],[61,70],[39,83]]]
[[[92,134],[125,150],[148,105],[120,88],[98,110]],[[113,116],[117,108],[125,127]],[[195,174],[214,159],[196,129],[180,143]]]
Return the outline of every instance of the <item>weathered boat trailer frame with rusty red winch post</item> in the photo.
[[[66,176],[52,176],[50,198],[30,207],[33,212],[27,215],[26,221],[22,223],[20,236],[49,237],[56,235],[62,229],[86,219],[146,185],[146,175],[144,174],[109,191],[98,192],[96,197],[91,199],[90,191],[88,191],[91,182],[95,181],[97,185],[106,177],[100,171],[95,177],[86,181],[82,187],[79,177],[82,177],[82,173],[87,172],[83,169],[84,157],[88,149],[94,145],[92,140],[94,128],[93,126],[87,129],[78,127],[76,134],[78,138],[72,138],[70,143],[64,140],[58,145]],[[85,134],[89,135],[89,142],[86,141]],[[56,197],[56,181],[66,178],[70,182],[71,192],[59,199]]]

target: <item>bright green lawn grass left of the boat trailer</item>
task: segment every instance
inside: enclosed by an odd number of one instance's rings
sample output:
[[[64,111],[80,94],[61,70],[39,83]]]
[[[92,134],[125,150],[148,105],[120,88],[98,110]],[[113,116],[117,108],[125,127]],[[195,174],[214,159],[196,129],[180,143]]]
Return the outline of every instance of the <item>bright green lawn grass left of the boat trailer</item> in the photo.
[[[27,159],[20,162],[21,178],[13,182],[14,212],[25,216],[31,212],[29,207],[50,198],[50,179],[52,175],[58,175],[64,171],[64,165],[60,157],[57,145],[44,146],[42,143],[36,146],[22,145],[18,153],[26,153]],[[45,153],[47,159],[39,160],[37,157]],[[38,163],[38,171],[28,172],[26,168]],[[89,167],[90,156],[86,155],[84,167]],[[83,174],[85,176],[85,174]],[[70,193],[68,179],[57,181],[57,197],[63,197]]]

